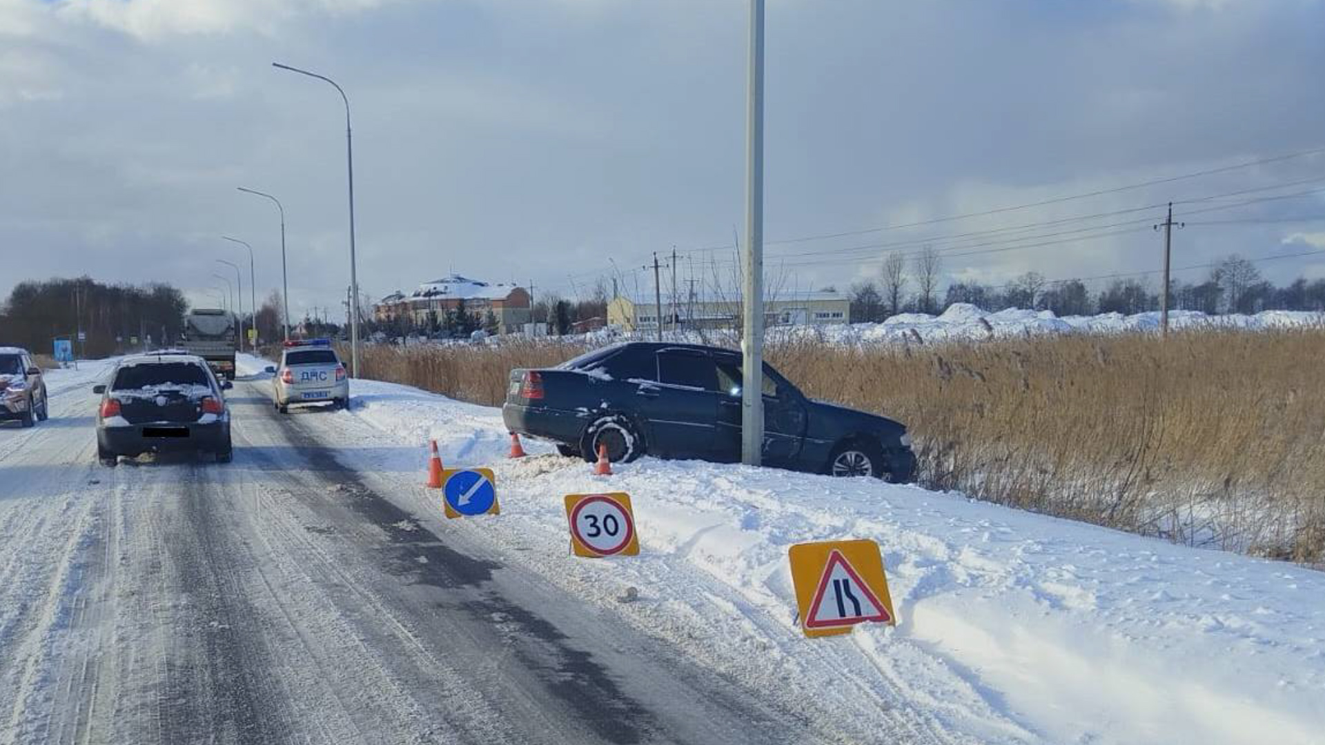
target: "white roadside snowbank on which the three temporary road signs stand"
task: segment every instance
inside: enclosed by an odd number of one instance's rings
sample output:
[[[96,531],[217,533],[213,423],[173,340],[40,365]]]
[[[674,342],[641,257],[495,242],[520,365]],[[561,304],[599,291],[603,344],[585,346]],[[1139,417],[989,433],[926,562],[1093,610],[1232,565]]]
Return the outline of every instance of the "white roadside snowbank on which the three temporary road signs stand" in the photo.
[[[655,459],[600,479],[545,443],[505,460],[496,408],[368,380],[351,392],[350,412],[303,422],[431,530],[489,540],[594,612],[784,691],[807,717],[861,722],[861,741],[885,711],[909,717],[917,741],[1306,744],[1325,732],[1325,574],[873,480]],[[448,467],[494,468],[501,517],[439,517],[419,488],[429,436]],[[608,489],[631,494],[643,554],[568,557],[563,494]],[[900,623],[803,639],[787,549],[840,538],[880,544]],[[629,587],[639,599],[620,602]]]

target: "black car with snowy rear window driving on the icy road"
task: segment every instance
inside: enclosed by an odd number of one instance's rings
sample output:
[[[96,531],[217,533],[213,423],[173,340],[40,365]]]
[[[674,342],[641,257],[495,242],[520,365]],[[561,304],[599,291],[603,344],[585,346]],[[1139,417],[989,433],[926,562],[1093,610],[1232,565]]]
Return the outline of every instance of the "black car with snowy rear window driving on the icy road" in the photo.
[[[136,355],[119,361],[97,411],[97,457],[115,465],[119,456],[144,452],[209,452],[231,461],[231,412],[223,390],[201,357]]]

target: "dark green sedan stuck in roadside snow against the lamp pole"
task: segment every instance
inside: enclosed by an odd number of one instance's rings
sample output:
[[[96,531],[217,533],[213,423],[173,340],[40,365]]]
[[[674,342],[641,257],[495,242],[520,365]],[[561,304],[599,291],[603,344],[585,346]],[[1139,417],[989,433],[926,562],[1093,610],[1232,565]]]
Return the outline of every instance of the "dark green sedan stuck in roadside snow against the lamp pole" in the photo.
[[[741,379],[737,351],[632,342],[513,370],[502,419],[586,460],[603,444],[613,461],[648,453],[730,463],[741,459]],[[914,475],[906,427],[811,400],[768,365],[763,406],[766,465],[898,483]]]

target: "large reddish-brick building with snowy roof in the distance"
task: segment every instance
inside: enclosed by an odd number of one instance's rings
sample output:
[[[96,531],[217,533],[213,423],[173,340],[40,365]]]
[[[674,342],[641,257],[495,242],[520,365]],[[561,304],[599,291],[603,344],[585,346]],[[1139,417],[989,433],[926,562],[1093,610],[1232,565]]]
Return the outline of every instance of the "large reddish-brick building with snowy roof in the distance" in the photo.
[[[396,290],[372,306],[372,317],[380,323],[403,321],[416,329],[441,322],[452,310],[464,304],[465,313],[484,323],[492,312],[497,319],[497,333],[518,331],[531,319],[529,290],[514,284],[490,284],[452,274],[419,285],[412,293]]]

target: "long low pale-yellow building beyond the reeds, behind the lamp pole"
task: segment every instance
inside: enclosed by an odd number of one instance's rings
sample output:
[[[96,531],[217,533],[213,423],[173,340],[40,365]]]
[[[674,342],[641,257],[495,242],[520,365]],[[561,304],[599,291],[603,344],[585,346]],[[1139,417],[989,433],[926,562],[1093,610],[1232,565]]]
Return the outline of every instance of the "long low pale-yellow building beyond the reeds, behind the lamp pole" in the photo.
[[[803,292],[763,304],[766,326],[820,326],[851,322],[851,298],[837,292]],[[674,314],[674,318],[673,318]],[[657,329],[657,310],[652,302],[636,304],[616,297],[607,304],[607,322],[623,331]],[[741,323],[738,301],[680,302],[673,309],[662,304],[662,326],[678,329],[731,329]]]

